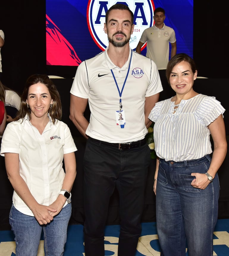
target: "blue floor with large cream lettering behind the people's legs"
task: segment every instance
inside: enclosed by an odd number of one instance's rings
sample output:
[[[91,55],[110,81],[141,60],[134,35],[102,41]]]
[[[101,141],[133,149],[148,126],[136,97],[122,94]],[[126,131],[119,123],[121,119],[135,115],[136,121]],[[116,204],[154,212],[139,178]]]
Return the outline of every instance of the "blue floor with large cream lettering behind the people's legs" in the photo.
[[[105,256],[117,255],[117,245],[119,236],[119,225],[106,226],[105,230]],[[229,255],[229,219],[220,219],[214,231],[214,255],[228,256]],[[152,256],[159,255],[160,247],[157,240],[156,223],[142,223],[141,241],[142,246],[139,246],[136,256]],[[0,231],[0,242],[14,241],[12,231]],[[148,244],[147,244],[148,242]],[[147,252],[146,252],[146,248]],[[116,253],[115,253],[116,252]],[[1,252],[0,252],[1,255]],[[68,239],[65,245],[64,256],[83,256],[83,226],[69,225]],[[188,255],[188,253],[187,253]],[[15,256],[11,255],[1,256]],[[204,256],[204,255],[203,255]]]

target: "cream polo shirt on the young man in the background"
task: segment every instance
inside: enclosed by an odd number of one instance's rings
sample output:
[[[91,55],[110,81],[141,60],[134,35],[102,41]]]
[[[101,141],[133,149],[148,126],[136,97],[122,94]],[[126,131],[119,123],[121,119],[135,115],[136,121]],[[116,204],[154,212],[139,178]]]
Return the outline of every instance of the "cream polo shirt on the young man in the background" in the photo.
[[[175,43],[175,31],[165,24],[161,29],[154,25],[143,31],[140,42],[145,44],[146,41],[146,57],[153,60],[159,70],[166,69],[169,62],[169,42]]]

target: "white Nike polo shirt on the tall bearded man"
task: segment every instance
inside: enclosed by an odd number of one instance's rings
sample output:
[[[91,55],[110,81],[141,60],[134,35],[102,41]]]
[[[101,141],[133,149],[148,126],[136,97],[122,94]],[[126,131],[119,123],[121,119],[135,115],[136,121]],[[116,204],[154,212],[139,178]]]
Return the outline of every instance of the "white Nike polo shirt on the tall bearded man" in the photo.
[[[163,90],[156,64],[130,48],[127,62],[119,68],[110,60],[107,49],[78,66],[70,90],[71,94],[88,99],[91,115],[86,134],[114,143],[143,139],[148,132],[144,116],[145,97]],[[121,96],[126,124],[120,128],[115,115],[115,111],[120,110],[120,95],[114,77],[121,92],[129,63]]]

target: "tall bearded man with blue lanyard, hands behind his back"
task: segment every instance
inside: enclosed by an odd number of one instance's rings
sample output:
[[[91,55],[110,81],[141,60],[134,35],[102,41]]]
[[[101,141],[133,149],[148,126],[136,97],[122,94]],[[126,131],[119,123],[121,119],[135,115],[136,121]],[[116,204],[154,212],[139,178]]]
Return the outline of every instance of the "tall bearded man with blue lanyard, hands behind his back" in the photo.
[[[82,62],[70,90],[70,119],[87,138],[84,154],[84,246],[104,255],[104,228],[115,186],[120,198],[119,256],[134,256],[141,234],[144,190],[150,164],[145,135],[148,114],[162,91],[156,64],[133,52],[134,15],[124,4],[106,13],[109,46]],[[89,103],[90,122],[84,117]],[[117,123],[118,113],[125,122]]]

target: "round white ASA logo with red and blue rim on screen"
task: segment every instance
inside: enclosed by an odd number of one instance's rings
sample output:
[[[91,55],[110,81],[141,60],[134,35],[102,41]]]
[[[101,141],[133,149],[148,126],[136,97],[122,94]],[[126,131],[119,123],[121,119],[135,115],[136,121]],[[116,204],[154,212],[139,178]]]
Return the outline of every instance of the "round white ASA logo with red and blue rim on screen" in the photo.
[[[142,32],[153,26],[153,0],[145,1],[102,1],[91,0],[87,5],[87,26],[95,44],[103,51],[108,46],[107,34],[104,32],[106,11],[114,4],[126,4],[134,13],[134,32],[131,35],[130,47],[135,50]],[[145,48],[146,44],[142,46]]]

